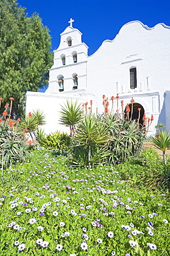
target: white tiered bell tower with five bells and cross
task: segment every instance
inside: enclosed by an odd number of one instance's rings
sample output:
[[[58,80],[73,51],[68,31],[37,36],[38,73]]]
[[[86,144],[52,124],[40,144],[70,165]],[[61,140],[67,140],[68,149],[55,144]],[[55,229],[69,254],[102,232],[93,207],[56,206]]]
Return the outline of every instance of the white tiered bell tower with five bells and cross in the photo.
[[[87,51],[88,46],[82,42],[82,33],[70,26],[61,33],[59,48],[54,50],[54,64],[50,68],[47,93],[64,93],[87,87]]]

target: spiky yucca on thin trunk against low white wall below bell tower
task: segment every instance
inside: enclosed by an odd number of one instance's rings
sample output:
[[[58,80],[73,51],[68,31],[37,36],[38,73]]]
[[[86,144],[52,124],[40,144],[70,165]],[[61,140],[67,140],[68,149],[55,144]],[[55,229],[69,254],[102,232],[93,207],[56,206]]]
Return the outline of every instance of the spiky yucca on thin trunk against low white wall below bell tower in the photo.
[[[83,113],[81,111],[81,104],[78,104],[77,100],[76,102],[72,102],[72,100],[67,100],[66,104],[64,106],[61,106],[61,118],[60,122],[61,125],[65,125],[67,127],[70,127],[70,136],[74,134],[76,125],[82,120]]]

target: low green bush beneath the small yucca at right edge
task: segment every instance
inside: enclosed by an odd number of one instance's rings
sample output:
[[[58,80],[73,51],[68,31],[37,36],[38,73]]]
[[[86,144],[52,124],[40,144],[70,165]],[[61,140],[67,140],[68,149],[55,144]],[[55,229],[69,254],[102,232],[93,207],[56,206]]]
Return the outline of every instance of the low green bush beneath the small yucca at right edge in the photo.
[[[152,148],[144,149],[138,158],[118,165],[116,170],[130,185],[170,191],[170,163],[164,165]]]

